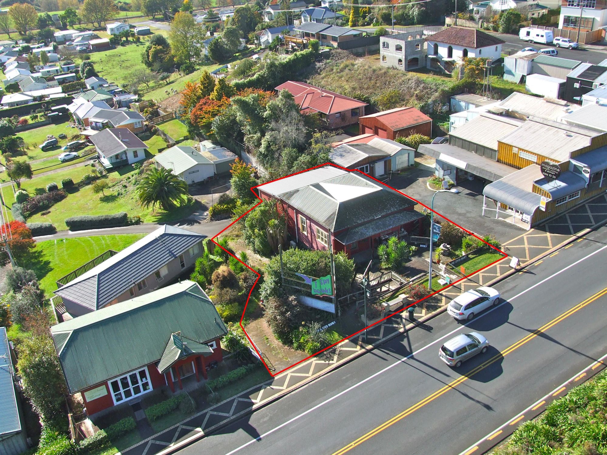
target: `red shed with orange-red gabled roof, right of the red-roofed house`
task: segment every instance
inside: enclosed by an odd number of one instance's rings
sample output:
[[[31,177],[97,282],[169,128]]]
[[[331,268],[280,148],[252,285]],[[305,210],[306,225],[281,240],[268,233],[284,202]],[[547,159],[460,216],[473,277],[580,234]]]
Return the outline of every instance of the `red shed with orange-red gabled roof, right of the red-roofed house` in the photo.
[[[361,134],[376,134],[393,141],[416,133],[431,137],[432,119],[415,107],[397,107],[362,116],[359,130]]]

